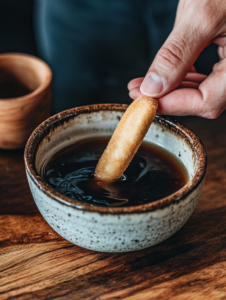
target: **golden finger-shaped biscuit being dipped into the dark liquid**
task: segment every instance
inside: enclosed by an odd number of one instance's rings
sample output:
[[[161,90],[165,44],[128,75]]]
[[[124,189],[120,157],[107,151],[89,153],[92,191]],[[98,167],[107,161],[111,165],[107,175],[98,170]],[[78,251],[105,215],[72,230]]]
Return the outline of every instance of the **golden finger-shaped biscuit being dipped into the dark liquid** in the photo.
[[[105,182],[119,179],[140,147],[153,119],[158,101],[141,96],[126,110],[101,156],[95,178]]]

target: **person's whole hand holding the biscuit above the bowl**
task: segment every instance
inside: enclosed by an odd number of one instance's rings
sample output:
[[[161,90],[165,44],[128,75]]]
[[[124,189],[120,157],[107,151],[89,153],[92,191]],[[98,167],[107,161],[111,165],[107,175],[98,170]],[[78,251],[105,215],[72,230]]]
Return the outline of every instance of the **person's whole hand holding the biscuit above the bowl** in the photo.
[[[221,61],[207,77],[193,64],[210,43]],[[175,25],[145,78],[128,84],[131,98],[159,98],[158,114],[217,118],[226,108],[226,2],[180,0]]]

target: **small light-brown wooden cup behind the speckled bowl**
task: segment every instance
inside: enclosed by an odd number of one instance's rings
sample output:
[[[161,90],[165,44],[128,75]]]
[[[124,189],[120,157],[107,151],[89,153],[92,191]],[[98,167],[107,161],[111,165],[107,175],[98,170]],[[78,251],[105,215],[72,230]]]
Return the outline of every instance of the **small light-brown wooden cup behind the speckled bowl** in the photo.
[[[12,89],[13,95],[0,98],[0,148],[24,147],[32,131],[50,116],[51,83],[51,69],[39,58],[19,53],[0,55],[0,97],[3,87],[9,95]],[[15,86],[28,93],[15,97]]]

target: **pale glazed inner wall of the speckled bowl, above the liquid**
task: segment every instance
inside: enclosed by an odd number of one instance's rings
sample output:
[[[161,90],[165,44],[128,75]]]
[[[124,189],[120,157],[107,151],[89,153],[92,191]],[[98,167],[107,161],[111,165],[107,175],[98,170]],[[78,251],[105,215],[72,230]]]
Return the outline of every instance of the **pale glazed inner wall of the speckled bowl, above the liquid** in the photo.
[[[43,138],[36,153],[35,166],[40,175],[43,163],[60,149],[78,140],[95,136],[111,136],[123,115],[122,111],[98,111],[82,113],[61,122]],[[188,138],[172,122],[159,122],[156,118],[145,136],[145,141],[167,149],[186,167],[189,180],[197,170],[197,158]]]

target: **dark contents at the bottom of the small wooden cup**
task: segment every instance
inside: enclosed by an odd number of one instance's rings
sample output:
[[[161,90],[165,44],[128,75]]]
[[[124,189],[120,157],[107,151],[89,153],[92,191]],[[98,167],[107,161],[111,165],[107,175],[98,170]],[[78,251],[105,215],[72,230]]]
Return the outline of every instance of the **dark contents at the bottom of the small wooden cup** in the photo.
[[[31,90],[19,82],[0,83],[0,99],[22,97],[31,93]]]

